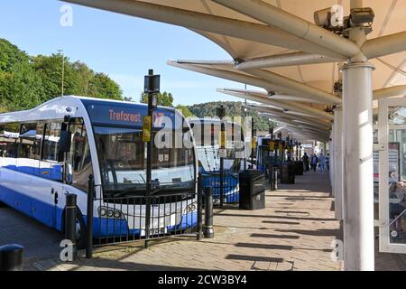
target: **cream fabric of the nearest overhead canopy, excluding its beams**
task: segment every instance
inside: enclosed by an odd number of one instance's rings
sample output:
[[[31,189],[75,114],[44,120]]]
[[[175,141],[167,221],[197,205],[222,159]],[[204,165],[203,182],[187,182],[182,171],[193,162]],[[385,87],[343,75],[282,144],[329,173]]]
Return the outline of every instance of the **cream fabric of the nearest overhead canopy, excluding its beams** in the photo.
[[[309,42],[308,40],[304,40],[300,37],[292,35],[291,33],[286,33],[278,27],[274,27],[268,23],[263,23],[258,19],[254,19],[254,17],[247,15],[248,13],[243,14],[232,8],[226,7],[226,5],[220,5],[217,3],[223,2],[224,4],[224,2],[227,1],[69,0],[69,2],[184,26],[195,31],[196,33],[204,35],[211,41],[216,42],[223,49],[225,49],[233,59],[239,59],[242,61],[298,51],[306,51],[310,53],[328,51],[328,49],[318,46],[314,42]],[[251,1],[245,2],[251,5]],[[333,5],[342,5],[344,7],[344,14],[347,15],[349,14],[350,9],[350,0],[263,0],[262,2],[273,5],[274,7],[278,7],[289,14],[296,15],[309,23],[314,23],[313,14],[315,11],[329,8]],[[152,5],[149,7],[145,6],[148,4]],[[141,7],[140,5],[144,6]],[[405,30],[404,11],[406,11],[406,1],[364,0],[364,6],[371,7],[375,14],[373,32],[367,36],[368,39],[374,39],[393,33],[401,33]],[[129,7],[132,8],[128,9]],[[161,7],[163,9],[160,11],[157,9],[157,7]],[[171,10],[171,12],[179,10],[221,17],[222,20],[239,22],[243,25],[243,27],[246,26],[246,24],[252,23],[254,24],[252,29],[256,31],[258,35],[254,35],[254,33],[252,33],[252,31],[248,28],[246,31],[231,31],[232,29],[230,28],[234,27],[231,24],[231,27],[226,27],[228,30],[227,32],[221,31],[221,29],[212,29],[212,27],[208,27],[208,25],[201,21],[201,24],[199,24],[199,19],[196,15],[194,17],[196,23],[190,23],[188,21],[181,22],[180,17],[177,17],[178,19],[174,19],[176,17],[171,15],[171,13],[165,13],[166,11],[164,9],[167,7],[174,8]],[[148,8],[151,9],[151,13],[149,14],[145,11],[148,10]],[[256,18],[259,18],[259,16]],[[217,23],[217,25],[225,26],[224,23]],[[266,32],[266,30],[268,30],[268,32]],[[251,35],[247,35],[247,33],[251,33]],[[268,37],[265,37],[266,35],[268,35]],[[338,56],[340,53],[335,51],[334,53],[330,54],[335,54],[335,56]],[[406,84],[406,76],[400,71],[406,67],[406,52],[381,56],[379,59],[372,60],[372,62],[376,66],[376,70],[374,71],[374,89],[382,89],[392,85]],[[309,83],[316,86],[318,89],[324,89],[330,93],[332,92],[334,82],[338,79],[337,65],[334,63],[296,65],[290,67],[272,68],[269,70],[290,79],[303,83]]]

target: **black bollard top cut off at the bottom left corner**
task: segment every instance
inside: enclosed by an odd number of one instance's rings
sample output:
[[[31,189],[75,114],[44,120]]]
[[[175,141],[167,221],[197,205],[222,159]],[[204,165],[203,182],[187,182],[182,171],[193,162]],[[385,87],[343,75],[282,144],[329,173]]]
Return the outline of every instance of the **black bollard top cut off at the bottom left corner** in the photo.
[[[0,271],[23,271],[23,251],[17,244],[0,247]]]

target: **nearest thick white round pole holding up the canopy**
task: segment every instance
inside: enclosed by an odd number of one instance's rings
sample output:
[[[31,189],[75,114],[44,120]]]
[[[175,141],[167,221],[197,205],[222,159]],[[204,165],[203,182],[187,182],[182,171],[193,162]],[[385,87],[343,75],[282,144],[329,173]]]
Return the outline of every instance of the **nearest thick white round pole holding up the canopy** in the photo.
[[[367,61],[343,67],[347,271],[374,271],[372,70],[374,66]]]

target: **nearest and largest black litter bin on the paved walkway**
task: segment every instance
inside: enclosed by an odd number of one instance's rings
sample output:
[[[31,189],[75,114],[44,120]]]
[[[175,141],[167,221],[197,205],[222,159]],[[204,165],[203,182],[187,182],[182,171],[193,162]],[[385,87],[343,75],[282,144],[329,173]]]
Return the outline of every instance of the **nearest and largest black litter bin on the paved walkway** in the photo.
[[[246,170],[239,174],[240,210],[265,209],[265,174]]]

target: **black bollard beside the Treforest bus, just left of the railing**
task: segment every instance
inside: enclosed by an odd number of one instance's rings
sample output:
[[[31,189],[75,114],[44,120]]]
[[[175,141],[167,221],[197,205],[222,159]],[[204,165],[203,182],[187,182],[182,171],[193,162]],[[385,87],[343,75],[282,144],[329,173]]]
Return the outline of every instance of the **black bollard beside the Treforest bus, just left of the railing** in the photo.
[[[65,207],[65,239],[72,242],[72,261],[78,257],[76,244],[76,216],[77,216],[77,196],[75,194],[66,195]]]

